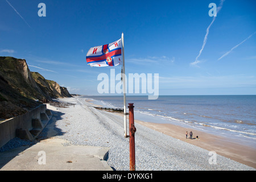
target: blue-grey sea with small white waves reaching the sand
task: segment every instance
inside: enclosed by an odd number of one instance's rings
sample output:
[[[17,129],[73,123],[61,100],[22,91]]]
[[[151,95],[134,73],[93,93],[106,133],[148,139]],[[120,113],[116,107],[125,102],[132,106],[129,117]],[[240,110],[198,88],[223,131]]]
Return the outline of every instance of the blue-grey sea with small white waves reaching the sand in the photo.
[[[123,96],[83,97],[96,105],[123,108]],[[135,119],[189,127],[256,148],[256,95],[159,96],[157,100],[126,96],[129,103],[134,104]]]

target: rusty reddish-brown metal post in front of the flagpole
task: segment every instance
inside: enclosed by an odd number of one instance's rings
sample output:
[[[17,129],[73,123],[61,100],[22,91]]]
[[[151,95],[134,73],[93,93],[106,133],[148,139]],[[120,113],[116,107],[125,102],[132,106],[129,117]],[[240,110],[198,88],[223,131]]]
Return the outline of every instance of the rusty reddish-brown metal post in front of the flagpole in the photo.
[[[130,134],[130,171],[135,171],[135,139],[133,103],[129,104],[129,134]]]

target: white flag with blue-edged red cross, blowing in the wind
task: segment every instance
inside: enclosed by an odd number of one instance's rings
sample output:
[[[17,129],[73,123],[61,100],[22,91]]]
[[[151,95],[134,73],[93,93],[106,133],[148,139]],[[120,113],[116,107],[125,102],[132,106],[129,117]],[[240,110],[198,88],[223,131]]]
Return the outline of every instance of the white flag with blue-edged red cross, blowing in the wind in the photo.
[[[122,63],[122,39],[104,46],[92,47],[86,55],[91,67],[112,67]]]

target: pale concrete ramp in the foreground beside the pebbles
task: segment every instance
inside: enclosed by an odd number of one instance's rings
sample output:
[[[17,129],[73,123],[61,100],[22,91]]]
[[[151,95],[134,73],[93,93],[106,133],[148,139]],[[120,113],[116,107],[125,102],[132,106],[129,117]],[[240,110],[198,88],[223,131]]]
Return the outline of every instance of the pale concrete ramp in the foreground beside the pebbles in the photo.
[[[50,138],[22,152],[2,152],[0,171],[113,171],[105,160],[109,148],[64,144],[67,140]]]

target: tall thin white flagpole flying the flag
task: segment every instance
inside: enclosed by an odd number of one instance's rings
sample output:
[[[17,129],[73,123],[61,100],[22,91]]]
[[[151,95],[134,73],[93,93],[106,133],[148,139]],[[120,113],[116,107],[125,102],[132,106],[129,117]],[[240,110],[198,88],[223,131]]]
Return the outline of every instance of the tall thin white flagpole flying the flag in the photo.
[[[122,32],[122,55],[123,55],[123,124],[125,129],[125,138],[127,138],[127,122],[126,122],[126,85],[125,85],[125,46],[123,44],[123,32]]]

